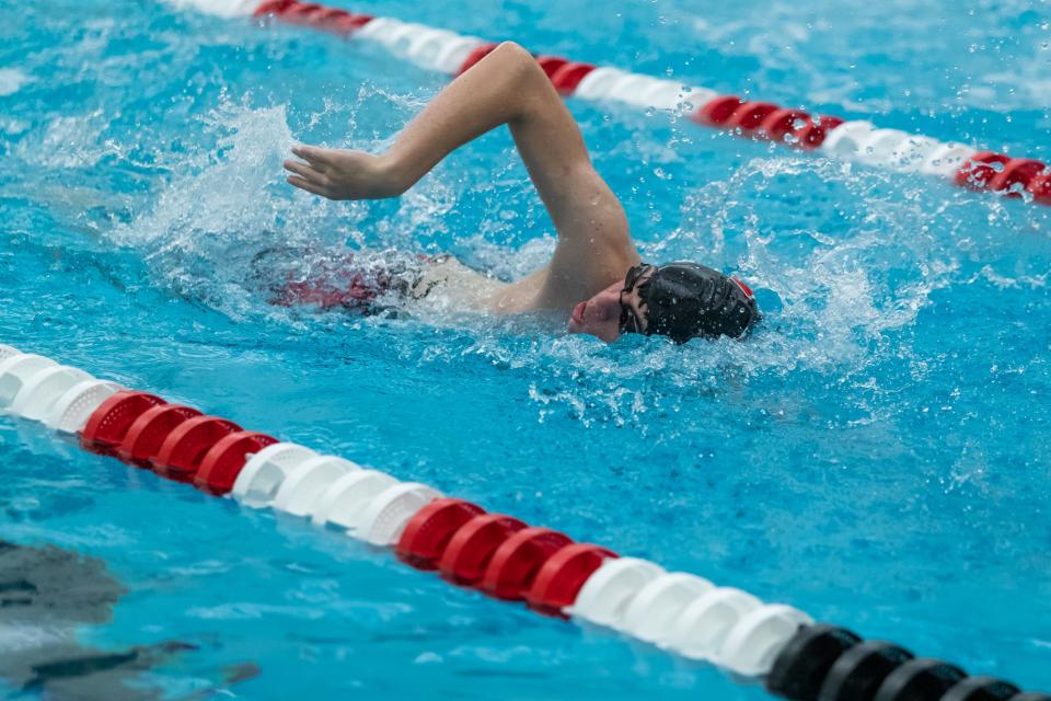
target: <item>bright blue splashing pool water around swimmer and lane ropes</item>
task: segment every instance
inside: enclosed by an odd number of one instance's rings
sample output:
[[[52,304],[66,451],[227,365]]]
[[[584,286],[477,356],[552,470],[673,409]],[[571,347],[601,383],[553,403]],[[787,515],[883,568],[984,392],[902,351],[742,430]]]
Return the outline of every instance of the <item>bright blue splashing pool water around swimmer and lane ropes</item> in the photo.
[[[708,5],[350,9],[1051,159],[1046,3]],[[510,139],[400,200],[321,202],[284,184],[288,147],[381,148],[440,76],[153,2],[0,16],[0,342],[1051,688],[1051,209],[574,102],[644,255],[737,271],[755,338],[275,308],[245,278],[279,242],[540,264],[552,227]],[[37,425],[0,417],[0,539],[126,589],[51,633],[187,646],[130,680],[143,698],[766,698]]]

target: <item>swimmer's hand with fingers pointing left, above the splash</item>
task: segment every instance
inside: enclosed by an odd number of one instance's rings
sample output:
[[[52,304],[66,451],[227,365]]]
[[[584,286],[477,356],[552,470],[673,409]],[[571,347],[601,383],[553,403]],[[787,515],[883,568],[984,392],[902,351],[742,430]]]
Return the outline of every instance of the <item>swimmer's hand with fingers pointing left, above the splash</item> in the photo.
[[[407,185],[390,159],[363,151],[297,146],[292,153],[303,159],[285,161],[293,173],[288,183],[328,199],[381,199],[396,197]]]

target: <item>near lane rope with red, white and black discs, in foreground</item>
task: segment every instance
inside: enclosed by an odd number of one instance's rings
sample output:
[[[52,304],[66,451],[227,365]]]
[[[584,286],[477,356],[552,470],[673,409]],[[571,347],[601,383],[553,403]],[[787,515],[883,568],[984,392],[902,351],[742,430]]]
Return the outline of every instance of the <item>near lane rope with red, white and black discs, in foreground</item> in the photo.
[[[767,690],[788,699],[1051,701],[815,624],[790,606],[578,543],[426,484],[245,430],[2,344],[0,413],[76,435],[85,450],[246,508],[310,518],[320,528],[393,549],[405,563],[455,585],[604,627],[737,679],[763,679]]]

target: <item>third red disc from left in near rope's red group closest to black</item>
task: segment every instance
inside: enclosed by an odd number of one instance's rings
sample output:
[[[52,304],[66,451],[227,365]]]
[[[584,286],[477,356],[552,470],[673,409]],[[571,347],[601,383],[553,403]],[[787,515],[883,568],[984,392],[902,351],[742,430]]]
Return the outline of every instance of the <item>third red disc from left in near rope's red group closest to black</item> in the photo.
[[[482,576],[482,589],[498,599],[524,598],[533,577],[548,558],[573,543],[550,528],[526,528],[496,549]]]

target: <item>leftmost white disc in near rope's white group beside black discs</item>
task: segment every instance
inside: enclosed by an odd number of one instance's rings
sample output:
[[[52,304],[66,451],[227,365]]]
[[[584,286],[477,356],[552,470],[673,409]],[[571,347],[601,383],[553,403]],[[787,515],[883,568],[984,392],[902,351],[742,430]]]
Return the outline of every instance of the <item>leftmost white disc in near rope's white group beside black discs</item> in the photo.
[[[663,567],[646,560],[609,559],[584,583],[566,613],[598,625],[617,628],[632,598],[662,574],[666,574]]]

